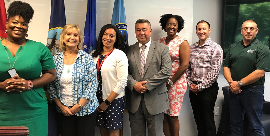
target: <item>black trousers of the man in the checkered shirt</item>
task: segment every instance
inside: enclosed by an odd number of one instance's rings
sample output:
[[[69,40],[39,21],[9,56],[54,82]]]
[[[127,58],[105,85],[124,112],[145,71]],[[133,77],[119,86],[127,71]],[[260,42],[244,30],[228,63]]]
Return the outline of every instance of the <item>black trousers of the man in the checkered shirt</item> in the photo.
[[[214,107],[218,95],[218,83],[215,81],[211,87],[205,88],[195,95],[190,91],[189,99],[197,124],[198,136],[215,136],[216,125],[214,120]]]

